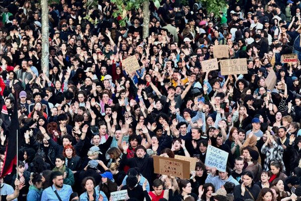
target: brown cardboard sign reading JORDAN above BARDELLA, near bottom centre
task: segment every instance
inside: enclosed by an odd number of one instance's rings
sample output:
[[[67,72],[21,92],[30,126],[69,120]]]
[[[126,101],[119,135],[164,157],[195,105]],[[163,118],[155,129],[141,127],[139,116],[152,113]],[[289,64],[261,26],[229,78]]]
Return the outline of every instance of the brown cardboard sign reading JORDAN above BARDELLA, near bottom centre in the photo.
[[[153,156],[154,172],[157,174],[172,175],[182,179],[190,178],[190,162],[175,158]]]

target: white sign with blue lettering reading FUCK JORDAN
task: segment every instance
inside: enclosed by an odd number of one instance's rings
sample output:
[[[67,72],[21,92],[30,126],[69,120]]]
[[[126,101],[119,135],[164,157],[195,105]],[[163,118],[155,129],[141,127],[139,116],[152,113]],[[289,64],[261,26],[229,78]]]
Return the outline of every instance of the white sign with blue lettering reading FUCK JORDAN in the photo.
[[[205,165],[208,167],[215,167],[217,170],[225,172],[228,155],[228,152],[225,152],[214,146],[208,145]]]

